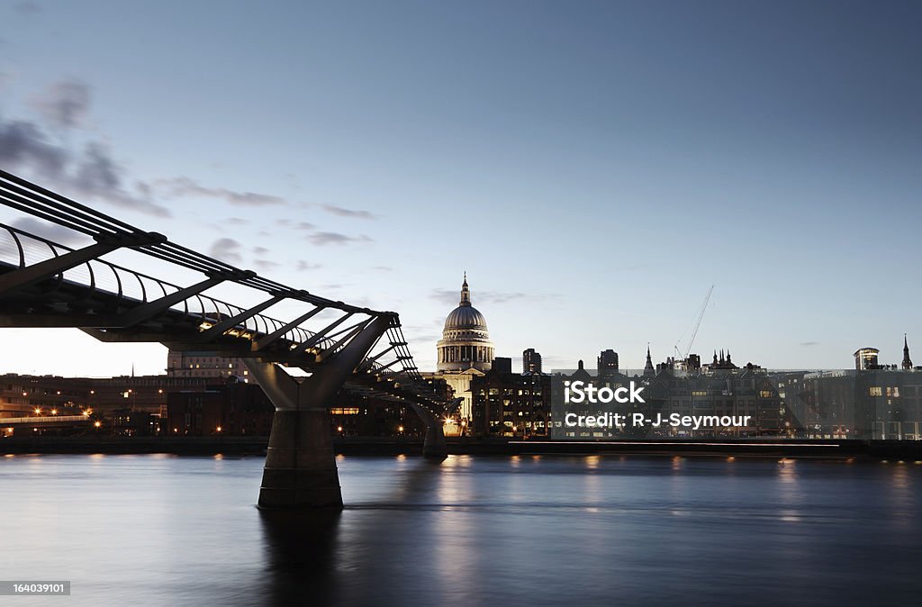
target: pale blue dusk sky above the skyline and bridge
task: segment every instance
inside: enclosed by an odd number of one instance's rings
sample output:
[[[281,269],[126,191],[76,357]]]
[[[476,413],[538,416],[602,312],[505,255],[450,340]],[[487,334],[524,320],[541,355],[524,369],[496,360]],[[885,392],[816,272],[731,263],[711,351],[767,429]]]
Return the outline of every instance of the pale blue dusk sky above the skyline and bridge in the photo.
[[[0,3],[0,167],[497,355],[922,363],[918,2]],[[4,208],[0,221],[17,222]],[[0,373],[162,373],[0,330]]]

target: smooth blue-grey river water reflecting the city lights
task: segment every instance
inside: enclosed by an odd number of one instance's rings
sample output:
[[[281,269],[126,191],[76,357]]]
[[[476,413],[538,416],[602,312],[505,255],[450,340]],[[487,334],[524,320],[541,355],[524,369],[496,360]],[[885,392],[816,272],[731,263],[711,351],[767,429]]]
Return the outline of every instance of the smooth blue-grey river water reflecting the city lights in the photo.
[[[922,464],[339,457],[339,515],[262,458],[0,458],[10,605],[919,604]]]

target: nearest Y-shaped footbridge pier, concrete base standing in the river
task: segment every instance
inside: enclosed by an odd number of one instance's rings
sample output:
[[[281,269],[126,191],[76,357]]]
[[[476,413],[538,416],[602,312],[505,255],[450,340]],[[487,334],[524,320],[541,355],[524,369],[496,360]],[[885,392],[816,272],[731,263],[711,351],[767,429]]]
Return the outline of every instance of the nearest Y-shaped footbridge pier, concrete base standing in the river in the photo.
[[[293,377],[275,363],[244,359],[276,406],[259,507],[342,509],[327,407],[388,322],[387,317],[372,320],[349,345],[307,377]]]

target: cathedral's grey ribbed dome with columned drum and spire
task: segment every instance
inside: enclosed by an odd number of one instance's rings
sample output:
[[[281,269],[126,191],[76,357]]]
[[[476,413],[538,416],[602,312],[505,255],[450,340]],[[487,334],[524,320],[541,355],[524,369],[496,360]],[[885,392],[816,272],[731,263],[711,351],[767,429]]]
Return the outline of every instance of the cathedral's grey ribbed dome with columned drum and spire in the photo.
[[[461,301],[445,318],[437,350],[440,371],[463,371],[469,368],[490,370],[493,344],[487,329],[487,319],[470,303],[467,274],[461,285]]]

